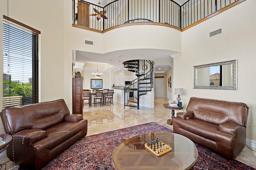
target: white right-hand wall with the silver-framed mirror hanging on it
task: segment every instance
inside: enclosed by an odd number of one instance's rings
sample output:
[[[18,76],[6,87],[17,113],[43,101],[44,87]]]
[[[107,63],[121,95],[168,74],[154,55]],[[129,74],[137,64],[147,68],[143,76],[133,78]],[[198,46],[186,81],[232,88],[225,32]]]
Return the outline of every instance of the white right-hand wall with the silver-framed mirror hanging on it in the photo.
[[[205,22],[182,32],[182,54],[174,58],[174,88],[184,88],[182,104],[190,97],[246,103],[249,109],[247,136],[256,141],[256,13],[255,0],[246,0]],[[238,13],[239,11],[239,13]],[[209,32],[223,34],[209,38]],[[238,60],[238,90],[193,89],[193,66]]]

